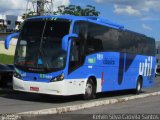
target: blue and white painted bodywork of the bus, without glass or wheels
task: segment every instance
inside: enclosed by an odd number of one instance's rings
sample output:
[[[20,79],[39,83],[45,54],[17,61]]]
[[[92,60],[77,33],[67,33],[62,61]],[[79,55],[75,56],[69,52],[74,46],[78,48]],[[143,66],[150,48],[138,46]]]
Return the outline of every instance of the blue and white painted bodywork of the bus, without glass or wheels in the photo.
[[[102,20],[98,17],[40,16],[29,18],[29,20],[39,18],[46,20],[56,20],[57,18],[70,20],[69,34],[73,34],[76,21],[86,21],[120,31],[126,31],[123,25]],[[83,64],[77,69],[72,70],[72,72],[69,72],[71,39],[72,38],[69,38],[68,43],[66,43],[67,58],[64,69],[50,73],[32,73],[21,70],[15,66],[16,73],[13,78],[14,89],[53,95],[85,94],[85,87],[89,78],[94,80],[96,93],[136,89],[139,77],[142,79],[142,87],[153,85],[156,66],[156,58],[154,55],[101,51],[86,55]],[[5,43],[6,48],[8,48],[9,39],[6,39]],[[62,81],[54,81],[58,79],[58,77],[64,78]]]

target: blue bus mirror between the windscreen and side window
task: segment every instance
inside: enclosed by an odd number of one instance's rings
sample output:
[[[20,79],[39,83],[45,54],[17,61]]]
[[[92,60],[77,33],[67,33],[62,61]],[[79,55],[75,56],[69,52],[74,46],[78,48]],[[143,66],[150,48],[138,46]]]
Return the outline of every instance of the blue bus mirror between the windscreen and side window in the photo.
[[[78,38],[77,34],[68,34],[62,38],[62,49],[67,51],[69,39]]]

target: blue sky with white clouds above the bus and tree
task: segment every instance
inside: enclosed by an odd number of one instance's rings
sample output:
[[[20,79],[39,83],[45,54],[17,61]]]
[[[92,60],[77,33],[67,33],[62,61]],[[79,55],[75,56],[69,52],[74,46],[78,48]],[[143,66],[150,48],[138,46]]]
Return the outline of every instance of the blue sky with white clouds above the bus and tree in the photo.
[[[31,0],[29,0],[31,1]],[[100,17],[124,25],[126,29],[160,41],[160,0],[53,0],[54,10],[60,5],[92,5]],[[0,0],[0,16],[22,15],[27,0]]]

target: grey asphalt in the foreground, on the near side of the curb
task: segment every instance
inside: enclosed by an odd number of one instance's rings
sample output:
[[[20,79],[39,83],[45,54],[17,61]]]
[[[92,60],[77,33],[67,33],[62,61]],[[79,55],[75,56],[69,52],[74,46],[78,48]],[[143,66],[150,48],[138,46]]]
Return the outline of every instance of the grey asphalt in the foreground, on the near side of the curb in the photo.
[[[93,107],[85,110],[68,112],[60,115],[45,115],[38,117],[22,117],[23,120],[96,120],[119,119],[125,120],[132,116],[138,120],[160,119],[160,96],[147,97],[145,99],[131,100],[124,103],[115,103],[105,106]],[[140,119],[139,119],[140,118]],[[129,119],[129,118],[128,118]]]

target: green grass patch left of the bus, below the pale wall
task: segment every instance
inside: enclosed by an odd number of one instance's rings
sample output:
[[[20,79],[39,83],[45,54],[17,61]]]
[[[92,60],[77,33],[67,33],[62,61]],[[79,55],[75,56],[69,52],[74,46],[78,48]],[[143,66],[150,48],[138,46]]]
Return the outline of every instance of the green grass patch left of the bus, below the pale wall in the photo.
[[[13,64],[14,56],[0,54],[0,64]]]

